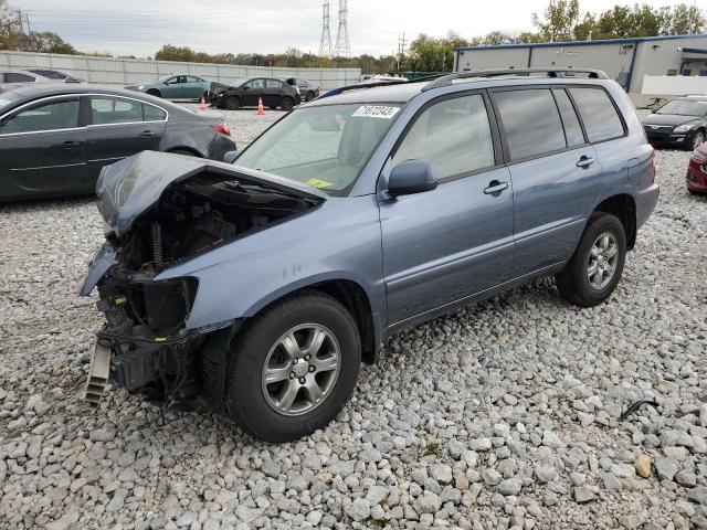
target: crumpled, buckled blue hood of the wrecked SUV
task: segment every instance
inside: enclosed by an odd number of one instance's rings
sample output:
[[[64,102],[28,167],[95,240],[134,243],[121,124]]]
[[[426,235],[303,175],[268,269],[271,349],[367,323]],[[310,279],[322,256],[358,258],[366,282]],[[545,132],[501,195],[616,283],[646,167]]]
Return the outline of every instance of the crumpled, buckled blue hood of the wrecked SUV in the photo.
[[[204,172],[214,184],[235,181],[317,203],[327,199],[327,194],[316,188],[274,174],[184,155],[143,151],[103,169],[96,184],[98,210],[119,237],[130,231],[137,218],[157,204],[170,186]]]

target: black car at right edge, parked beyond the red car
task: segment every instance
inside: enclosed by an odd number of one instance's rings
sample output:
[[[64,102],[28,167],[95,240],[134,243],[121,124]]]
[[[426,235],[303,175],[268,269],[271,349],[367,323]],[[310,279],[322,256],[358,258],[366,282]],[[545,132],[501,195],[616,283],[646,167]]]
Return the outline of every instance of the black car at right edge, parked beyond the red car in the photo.
[[[707,138],[707,97],[673,99],[642,121],[651,144],[696,149]]]

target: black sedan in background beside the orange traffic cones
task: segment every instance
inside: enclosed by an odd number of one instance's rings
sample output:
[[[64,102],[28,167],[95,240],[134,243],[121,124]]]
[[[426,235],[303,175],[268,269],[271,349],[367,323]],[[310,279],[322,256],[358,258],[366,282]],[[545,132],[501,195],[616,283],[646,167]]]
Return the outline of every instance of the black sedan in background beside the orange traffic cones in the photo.
[[[209,100],[218,108],[238,110],[241,107],[256,107],[258,99],[263,106],[292,110],[302,103],[299,88],[273,77],[251,77],[235,80],[230,85],[211,83]]]

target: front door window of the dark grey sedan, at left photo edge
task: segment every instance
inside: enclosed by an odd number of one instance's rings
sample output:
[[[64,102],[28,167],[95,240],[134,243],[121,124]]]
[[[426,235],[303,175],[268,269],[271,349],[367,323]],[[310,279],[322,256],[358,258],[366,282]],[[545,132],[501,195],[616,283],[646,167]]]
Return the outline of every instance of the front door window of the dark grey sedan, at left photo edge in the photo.
[[[0,121],[0,135],[73,129],[78,126],[78,99],[50,102]]]

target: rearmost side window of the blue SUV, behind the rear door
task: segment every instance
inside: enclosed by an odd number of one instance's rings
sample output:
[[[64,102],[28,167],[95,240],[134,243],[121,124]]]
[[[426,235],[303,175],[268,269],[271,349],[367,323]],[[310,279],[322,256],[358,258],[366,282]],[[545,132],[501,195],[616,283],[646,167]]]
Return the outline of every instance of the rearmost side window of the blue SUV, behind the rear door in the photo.
[[[624,135],[623,124],[609,95],[601,88],[570,88],[582,116],[589,141],[603,141]]]

